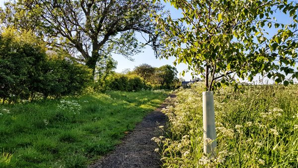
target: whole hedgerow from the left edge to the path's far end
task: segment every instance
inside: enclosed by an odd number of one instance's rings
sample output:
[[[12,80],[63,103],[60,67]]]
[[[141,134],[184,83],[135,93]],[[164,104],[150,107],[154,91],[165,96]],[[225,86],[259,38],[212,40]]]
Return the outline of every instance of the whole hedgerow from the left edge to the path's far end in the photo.
[[[48,47],[31,31],[4,29],[0,33],[0,100],[13,103],[76,95],[87,89],[138,91],[181,85],[176,68],[169,65],[142,64],[133,71],[115,73],[117,62],[111,55],[100,60],[93,78],[87,66],[61,48]]]

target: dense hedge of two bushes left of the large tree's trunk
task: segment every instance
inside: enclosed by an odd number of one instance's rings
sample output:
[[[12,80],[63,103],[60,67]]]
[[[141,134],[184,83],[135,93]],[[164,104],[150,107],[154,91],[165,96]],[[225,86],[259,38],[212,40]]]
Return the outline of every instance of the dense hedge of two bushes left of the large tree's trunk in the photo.
[[[0,99],[16,102],[82,91],[91,71],[59,51],[47,50],[31,32],[0,34]]]

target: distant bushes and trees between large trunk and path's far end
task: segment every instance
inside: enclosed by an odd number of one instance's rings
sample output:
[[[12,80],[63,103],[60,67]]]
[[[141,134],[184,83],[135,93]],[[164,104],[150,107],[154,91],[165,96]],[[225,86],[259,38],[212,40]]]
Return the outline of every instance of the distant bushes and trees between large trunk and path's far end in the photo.
[[[105,80],[97,79],[99,90],[138,91],[141,89],[171,89],[181,86],[177,79],[177,70],[170,65],[159,68],[141,64],[133,71],[110,72]]]

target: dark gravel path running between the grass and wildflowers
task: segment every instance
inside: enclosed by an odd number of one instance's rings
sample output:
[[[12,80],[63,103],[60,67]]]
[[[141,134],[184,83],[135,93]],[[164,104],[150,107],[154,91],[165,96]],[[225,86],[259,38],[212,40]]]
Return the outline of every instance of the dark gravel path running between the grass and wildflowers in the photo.
[[[115,151],[88,168],[160,168],[160,156],[154,152],[157,145],[151,138],[159,136],[158,126],[166,124],[167,118],[160,112],[165,106],[166,102],[147,115]]]

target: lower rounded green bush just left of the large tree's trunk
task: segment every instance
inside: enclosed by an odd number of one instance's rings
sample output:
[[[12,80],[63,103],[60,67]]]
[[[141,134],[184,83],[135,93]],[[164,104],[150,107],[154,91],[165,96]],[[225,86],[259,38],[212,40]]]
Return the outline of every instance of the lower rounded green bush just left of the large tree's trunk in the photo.
[[[44,66],[38,92],[48,96],[80,93],[91,82],[91,70],[65,59],[49,60]]]

